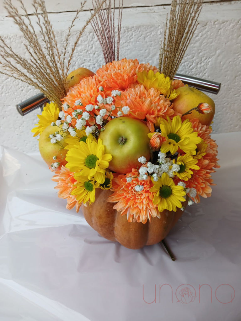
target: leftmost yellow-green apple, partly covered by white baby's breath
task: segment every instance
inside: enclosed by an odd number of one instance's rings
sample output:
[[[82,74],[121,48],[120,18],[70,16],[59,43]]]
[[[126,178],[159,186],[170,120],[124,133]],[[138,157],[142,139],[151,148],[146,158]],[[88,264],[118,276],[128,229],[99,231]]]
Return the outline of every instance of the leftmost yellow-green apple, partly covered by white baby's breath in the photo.
[[[49,138],[50,134],[54,134],[55,132],[59,131],[60,128],[58,126],[47,126],[39,137],[39,151],[43,158],[43,160],[51,166],[54,162],[59,162],[60,166],[66,165],[65,155],[67,153],[67,150],[64,149],[64,147],[67,145],[67,143],[62,140],[61,142],[57,143],[51,143]],[[68,135],[68,133],[63,134],[63,136]],[[56,160],[53,159],[53,157],[56,156]]]

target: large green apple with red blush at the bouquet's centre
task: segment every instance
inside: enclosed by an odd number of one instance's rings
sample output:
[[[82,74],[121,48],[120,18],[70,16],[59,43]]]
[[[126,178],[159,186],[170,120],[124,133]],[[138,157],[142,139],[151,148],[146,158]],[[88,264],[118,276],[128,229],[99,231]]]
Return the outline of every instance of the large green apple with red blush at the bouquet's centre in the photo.
[[[112,154],[109,169],[113,172],[126,174],[132,168],[141,166],[138,158],[150,160],[149,129],[145,122],[131,117],[117,117],[105,125],[99,139],[105,147],[105,153]]]

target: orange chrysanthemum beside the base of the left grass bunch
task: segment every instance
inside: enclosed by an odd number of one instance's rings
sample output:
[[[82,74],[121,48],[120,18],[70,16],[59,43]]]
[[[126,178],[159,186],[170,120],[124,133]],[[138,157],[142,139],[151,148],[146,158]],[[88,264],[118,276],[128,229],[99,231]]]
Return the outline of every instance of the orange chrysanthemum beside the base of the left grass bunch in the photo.
[[[85,109],[86,105],[95,105],[96,98],[99,95],[103,96],[103,93],[99,91],[99,87],[100,83],[96,75],[83,78],[77,85],[70,88],[67,97],[63,98],[63,103],[67,103],[71,107],[65,113],[72,115],[75,109]],[[76,100],[80,100],[82,106],[76,106]]]

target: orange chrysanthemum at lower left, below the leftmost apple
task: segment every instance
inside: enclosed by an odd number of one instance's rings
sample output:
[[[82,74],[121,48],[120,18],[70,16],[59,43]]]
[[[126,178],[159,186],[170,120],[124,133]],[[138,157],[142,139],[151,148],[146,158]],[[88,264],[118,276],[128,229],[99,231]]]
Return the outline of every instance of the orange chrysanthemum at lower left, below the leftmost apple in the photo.
[[[76,182],[74,173],[62,166],[60,170],[55,171],[52,180],[58,183],[55,187],[55,189],[59,190],[58,197],[67,199],[66,208],[71,210],[75,206],[76,212],[78,213],[81,204],[76,200],[75,195],[71,195],[71,192],[75,189],[74,184]]]

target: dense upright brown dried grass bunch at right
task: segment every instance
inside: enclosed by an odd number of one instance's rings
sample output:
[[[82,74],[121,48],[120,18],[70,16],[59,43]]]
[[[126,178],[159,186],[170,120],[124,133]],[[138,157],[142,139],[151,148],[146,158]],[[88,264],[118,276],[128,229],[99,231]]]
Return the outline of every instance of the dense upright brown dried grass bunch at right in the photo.
[[[159,70],[173,79],[197,28],[203,0],[172,0],[161,43]],[[168,34],[167,34],[168,33]]]

